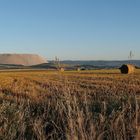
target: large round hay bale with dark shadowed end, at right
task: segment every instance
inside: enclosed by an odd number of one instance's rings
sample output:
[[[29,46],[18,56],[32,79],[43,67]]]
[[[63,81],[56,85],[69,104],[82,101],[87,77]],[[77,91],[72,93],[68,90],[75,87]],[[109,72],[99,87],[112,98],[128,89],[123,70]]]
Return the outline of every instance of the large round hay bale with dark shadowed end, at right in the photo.
[[[120,67],[120,71],[121,71],[122,74],[131,74],[131,73],[134,73],[135,66],[131,65],[131,64],[123,64]]]

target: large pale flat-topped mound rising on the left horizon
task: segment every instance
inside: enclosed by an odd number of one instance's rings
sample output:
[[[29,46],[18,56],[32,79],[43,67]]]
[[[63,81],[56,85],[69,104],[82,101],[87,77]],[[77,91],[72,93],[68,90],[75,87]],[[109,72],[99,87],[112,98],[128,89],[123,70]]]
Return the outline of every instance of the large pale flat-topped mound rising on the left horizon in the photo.
[[[37,54],[0,54],[0,64],[30,66],[46,62],[47,60]]]

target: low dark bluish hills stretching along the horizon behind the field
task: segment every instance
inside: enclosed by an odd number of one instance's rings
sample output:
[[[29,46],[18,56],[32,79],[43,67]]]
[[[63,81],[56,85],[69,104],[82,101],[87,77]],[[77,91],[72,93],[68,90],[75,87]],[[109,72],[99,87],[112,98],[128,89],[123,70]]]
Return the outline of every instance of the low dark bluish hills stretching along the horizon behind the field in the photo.
[[[122,64],[134,64],[137,68],[140,68],[140,60],[133,61],[61,61],[60,65],[66,70],[81,69],[110,69],[119,68]],[[17,65],[17,64],[0,64],[0,69],[51,69],[56,70],[58,66],[54,64],[54,61],[47,63],[41,63],[36,65]]]

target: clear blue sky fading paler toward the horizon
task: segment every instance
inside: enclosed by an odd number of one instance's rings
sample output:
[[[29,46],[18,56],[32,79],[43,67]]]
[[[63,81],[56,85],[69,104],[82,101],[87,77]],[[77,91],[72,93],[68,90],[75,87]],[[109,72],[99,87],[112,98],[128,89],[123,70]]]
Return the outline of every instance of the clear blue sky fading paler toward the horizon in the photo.
[[[140,59],[140,0],[0,0],[0,53]]]

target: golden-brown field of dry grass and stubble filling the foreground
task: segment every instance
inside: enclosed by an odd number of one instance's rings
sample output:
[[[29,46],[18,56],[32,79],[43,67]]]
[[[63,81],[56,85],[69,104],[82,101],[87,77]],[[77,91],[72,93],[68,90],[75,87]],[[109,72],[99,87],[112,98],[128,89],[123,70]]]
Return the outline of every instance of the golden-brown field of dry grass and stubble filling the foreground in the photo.
[[[140,70],[0,71],[0,140],[139,139]]]

